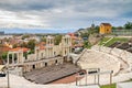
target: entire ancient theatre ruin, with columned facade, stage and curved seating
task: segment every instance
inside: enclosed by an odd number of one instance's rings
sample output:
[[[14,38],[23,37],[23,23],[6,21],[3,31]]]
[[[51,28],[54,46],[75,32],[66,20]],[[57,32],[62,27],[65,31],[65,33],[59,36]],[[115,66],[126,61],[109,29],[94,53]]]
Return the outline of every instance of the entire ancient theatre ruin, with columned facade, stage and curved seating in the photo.
[[[124,81],[132,78],[132,53],[117,47],[95,45],[90,50],[84,50],[81,54],[72,53],[69,36],[64,36],[58,46],[54,45],[52,36],[47,36],[46,48],[35,47],[35,53],[23,57],[22,51],[10,51],[9,54],[16,54],[8,62],[12,70],[10,73],[24,76],[25,79],[35,84],[51,84],[56,80],[72,80],[68,84],[75,85],[78,72],[90,68],[98,68],[101,72],[112,72],[112,82]],[[32,58],[32,59],[31,59]],[[15,70],[15,72],[13,72]],[[100,74],[98,74],[100,75]],[[73,76],[73,77],[69,77]],[[87,84],[94,84],[96,75],[87,76]],[[67,79],[65,79],[67,78]],[[99,84],[109,84],[109,74],[100,76]],[[86,77],[79,78],[81,84]],[[58,81],[57,84],[64,84]]]

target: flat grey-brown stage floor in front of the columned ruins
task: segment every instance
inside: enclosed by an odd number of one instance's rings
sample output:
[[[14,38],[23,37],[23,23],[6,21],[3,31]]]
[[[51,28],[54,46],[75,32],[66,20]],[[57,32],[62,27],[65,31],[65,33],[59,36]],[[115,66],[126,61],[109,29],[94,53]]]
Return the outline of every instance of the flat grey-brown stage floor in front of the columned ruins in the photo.
[[[31,80],[36,84],[50,84],[55,80],[76,74],[79,70],[79,67],[70,63],[64,63],[62,65],[54,65],[41,69],[34,69],[30,73],[25,73],[24,77],[28,80]]]

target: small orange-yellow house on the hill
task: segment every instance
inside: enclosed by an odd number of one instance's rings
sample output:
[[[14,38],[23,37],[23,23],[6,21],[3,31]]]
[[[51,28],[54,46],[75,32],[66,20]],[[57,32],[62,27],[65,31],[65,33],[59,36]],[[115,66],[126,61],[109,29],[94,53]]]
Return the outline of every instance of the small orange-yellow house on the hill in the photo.
[[[99,33],[100,34],[109,34],[111,33],[112,25],[110,23],[101,23]]]

